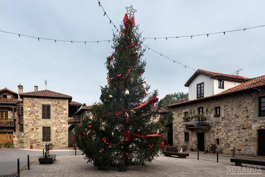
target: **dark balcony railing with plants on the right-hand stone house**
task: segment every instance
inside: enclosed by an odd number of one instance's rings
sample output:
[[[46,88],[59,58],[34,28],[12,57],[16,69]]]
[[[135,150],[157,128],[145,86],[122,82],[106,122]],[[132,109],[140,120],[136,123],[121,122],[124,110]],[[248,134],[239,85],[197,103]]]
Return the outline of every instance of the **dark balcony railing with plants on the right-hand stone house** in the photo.
[[[210,128],[210,116],[204,117],[193,117],[188,118],[184,121],[184,125],[186,129],[190,128]]]

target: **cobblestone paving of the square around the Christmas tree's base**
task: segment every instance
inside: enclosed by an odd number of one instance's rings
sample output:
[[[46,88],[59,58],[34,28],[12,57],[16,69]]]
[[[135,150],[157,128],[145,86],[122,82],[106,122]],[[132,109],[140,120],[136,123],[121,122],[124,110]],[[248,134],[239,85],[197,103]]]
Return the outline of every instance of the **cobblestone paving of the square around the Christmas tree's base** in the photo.
[[[231,171],[227,171],[227,168]],[[145,167],[133,166],[126,172],[117,170],[98,170],[92,163],[86,163],[83,156],[58,156],[52,164],[40,165],[38,162],[31,166],[30,170],[21,172],[22,177],[66,177],[66,176],[99,176],[99,177],[161,177],[161,176],[182,176],[182,177],[198,177],[198,176],[235,176],[235,173],[242,173],[246,176],[264,176],[265,170],[255,169],[247,172],[243,167],[231,166],[225,163],[214,163],[205,160],[181,159],[175,157],[160,156],[152,163],[148,163]],[[247,174],[248,173],[248,174]]]

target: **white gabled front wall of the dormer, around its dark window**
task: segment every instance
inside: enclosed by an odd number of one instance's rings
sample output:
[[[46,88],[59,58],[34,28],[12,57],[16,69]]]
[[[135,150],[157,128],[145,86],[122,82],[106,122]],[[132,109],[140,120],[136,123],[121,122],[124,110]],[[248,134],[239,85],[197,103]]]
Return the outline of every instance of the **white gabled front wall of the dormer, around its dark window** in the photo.
[[[214,79],[210,79],[209,76],[203,74],[198,74],[198,76],[189,84],[189,100],[197,99],[197,84],[202,82],[204,82],[204,97],[214,94]]]

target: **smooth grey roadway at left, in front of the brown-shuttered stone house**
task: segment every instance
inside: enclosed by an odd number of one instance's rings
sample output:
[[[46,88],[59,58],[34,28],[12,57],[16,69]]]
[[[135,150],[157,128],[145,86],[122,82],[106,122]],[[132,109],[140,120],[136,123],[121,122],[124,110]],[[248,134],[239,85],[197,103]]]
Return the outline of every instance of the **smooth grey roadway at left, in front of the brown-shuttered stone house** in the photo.
[[[17,169],[17,158],[19,158],[20,167],[27,164],[28,162],[28,154],[30,161],[37,158],[38,156],[42,156],[42,151],[31,151],[24,149],[0,149],[0,175],[1,174],[10,174],[11,172]],[[60,155],[74,155],[75,151],[50,151],[50,154]],[[76,152],[77,155],[81,155],[81,151]]]

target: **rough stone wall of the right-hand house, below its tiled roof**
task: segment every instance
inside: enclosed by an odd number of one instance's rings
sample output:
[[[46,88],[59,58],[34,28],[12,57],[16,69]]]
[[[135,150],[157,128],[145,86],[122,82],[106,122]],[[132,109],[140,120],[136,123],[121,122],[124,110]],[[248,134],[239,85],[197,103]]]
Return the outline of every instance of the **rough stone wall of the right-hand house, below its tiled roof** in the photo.
[[[217,144],[217,150],[224,154],[232,154],[233,147],[238,155],[258,154],[258,129],[265,126],[265,117],[260,118],[258,112],[258,96],[265,95],[264,91],[245,92],[230,96],[191,103],[173,108],[173,144],[176,146],[187,145],[187,149],[197,149],[197,133],[204,132],[205,148],[209,144]],[[214,117],[215,107],[221,109],[220,117]],[[184,112],[204,107],[206,116],[210,116],[211,128],[185,129]],[[205,108],[208,109],[205,112]],[[209,111],[212,108],[212,112]],[[184,132],[189,132],[189,142],[184,142]]]

